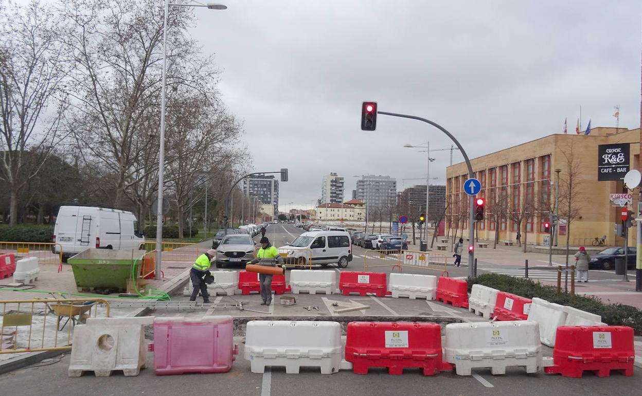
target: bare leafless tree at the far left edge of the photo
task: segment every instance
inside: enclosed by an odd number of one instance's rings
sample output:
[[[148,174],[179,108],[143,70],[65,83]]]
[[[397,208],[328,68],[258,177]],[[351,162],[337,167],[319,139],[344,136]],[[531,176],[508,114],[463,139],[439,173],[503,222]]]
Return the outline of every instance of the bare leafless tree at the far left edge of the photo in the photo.
[[[10,225],[17,223],[19,193],[63,137],[65,67],[58,41],[63,23],[36,0],[0,8],[0,180],[10,193]],[[29,151],[39,160],[26,160]]]

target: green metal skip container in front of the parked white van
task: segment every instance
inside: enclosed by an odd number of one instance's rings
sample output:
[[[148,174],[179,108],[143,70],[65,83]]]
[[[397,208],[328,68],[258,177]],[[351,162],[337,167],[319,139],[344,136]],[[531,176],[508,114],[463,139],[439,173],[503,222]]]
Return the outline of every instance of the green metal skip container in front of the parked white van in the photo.
[[[78,291],[125,293],[127,280],[132,279],[132,266],[138,276],[144,250],[87,249],[67,260],[74,271]]]

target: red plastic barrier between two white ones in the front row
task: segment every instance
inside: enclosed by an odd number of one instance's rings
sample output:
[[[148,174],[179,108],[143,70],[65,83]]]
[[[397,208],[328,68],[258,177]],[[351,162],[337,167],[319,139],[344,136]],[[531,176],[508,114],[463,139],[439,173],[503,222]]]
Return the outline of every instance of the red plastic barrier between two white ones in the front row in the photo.
[[[368,374],[370,367],[387,367],[394,375],[407,367],[422,368],[424,375],[453,369],[442,361],[437,323],[350,322],[345,359],[355,374]]]

